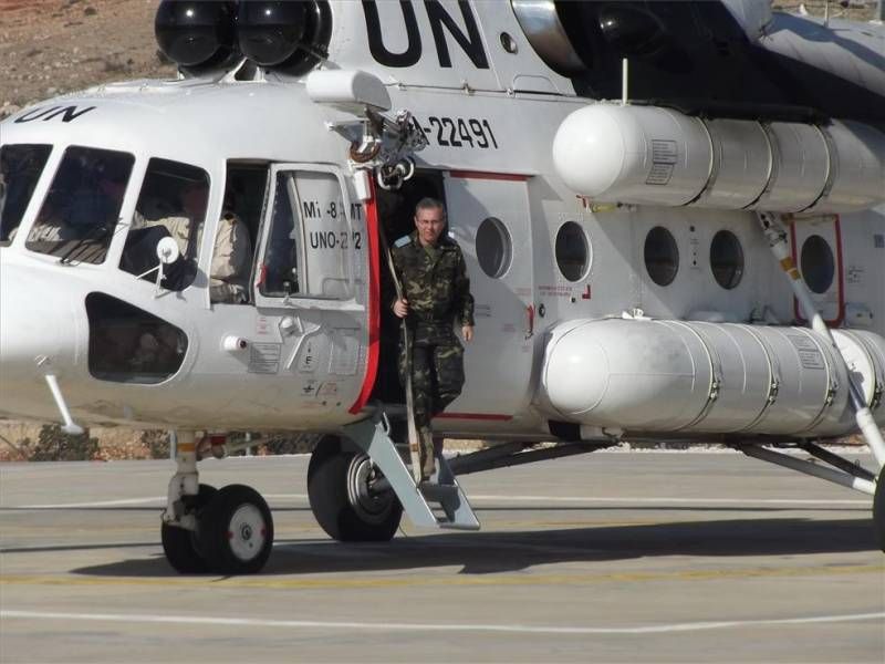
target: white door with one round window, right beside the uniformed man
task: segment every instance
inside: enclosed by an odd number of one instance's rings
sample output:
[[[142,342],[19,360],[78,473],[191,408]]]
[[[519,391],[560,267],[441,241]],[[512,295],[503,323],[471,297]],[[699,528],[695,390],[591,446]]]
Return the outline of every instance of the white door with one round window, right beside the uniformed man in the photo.
[[[451,172],[445,179],[449,232],[460,245],[476,302],[465,344],[462,395],[442,414],[512,417],[530,401],[534,307],[528,180]],[[470,413],[465,413],[470,411]]]

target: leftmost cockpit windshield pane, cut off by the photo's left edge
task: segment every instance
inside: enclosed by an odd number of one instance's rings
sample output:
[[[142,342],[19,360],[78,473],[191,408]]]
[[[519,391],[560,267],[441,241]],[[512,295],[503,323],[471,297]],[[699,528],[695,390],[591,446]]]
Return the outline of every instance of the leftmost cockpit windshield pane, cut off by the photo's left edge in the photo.
[[[0,247],[15,237],[51,152],[50,145],[0,147]]]

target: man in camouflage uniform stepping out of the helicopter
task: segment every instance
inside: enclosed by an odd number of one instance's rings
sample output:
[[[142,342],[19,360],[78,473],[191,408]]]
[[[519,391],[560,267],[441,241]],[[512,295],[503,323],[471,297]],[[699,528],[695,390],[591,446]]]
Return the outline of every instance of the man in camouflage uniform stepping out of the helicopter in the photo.
[[[412,390],[415,425],[420,437],[421,479],[436,471],[430,419],[461,393],[464,346],[455,335],[473,338],[473,297],[461,249],[442,231],[446,211],[435,198],[423,198],[415,207],[415,231],[396,242],[393,250],[403,298],[394,313],[406,321],[412,347]],[[399,353],[399,375],[406,384],[408,359]],[[441,452],[441,450],[440,450]]]

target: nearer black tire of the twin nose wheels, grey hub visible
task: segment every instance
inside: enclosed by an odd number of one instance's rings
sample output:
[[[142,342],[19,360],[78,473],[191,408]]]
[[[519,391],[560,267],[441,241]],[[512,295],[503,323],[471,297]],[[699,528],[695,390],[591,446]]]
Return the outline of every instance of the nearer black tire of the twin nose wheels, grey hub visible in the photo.
[[[200,518],[199,550],[218,574],[254,574],[273,548],[273,518],[251,487],[229,485],[206,506]]]

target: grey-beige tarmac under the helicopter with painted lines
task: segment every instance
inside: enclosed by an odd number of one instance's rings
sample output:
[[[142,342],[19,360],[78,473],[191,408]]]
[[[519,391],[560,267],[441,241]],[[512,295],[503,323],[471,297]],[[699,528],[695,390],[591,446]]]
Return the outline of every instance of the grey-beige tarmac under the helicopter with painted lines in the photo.
[[[273,509],[267,568],[236,578],[167,564],[170,461],[0,466],[0,662],[885,661],[862,494],[738,453],[600,452],[464,477],[479,532],[404,518],[342,544],[306,465],[200,465]]]

